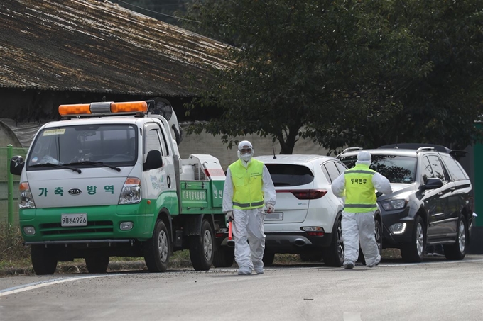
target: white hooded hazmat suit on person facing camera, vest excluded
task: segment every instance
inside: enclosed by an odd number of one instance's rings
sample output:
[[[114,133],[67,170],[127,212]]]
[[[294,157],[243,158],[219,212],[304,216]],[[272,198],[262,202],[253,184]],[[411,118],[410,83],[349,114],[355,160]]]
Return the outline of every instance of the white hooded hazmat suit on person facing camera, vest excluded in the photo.
[[[254,154],[249,141],[242,141],[238,146],[238,157],[241,165],[248,171]],[[268,169],[264,165],[262,172],[262,191],[264,193],[264,205],[268,213],[273,211],[276,203],[276,192]],[[223,211],[227,213],[227,219],[233,218],[233,236],[235,241],[235,261],[239,266],[239,275],[249,275],[254,269],[257,274],[264,273],[265,234],[264,234],[264,205],[260,208],[241,210],[233,208],[234,184],[232,173],[227,169],[227,177],[224,181]]]

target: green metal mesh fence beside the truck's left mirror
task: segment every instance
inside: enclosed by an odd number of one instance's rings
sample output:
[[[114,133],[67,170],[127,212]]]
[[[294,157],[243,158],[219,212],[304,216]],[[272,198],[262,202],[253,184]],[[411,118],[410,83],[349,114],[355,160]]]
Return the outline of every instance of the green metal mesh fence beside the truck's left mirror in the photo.
[[[24,159],[26,148],[0,147],[0,223],[18,225],[18,184],[20,176],[10,174],[10,159],[21,155]]]

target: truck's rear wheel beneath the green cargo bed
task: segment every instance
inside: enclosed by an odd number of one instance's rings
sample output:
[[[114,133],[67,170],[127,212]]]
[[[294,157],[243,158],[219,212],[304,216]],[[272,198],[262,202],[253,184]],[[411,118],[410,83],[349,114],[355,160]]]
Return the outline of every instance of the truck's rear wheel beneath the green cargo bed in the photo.
[[[201,223],[200,235],[190,237],[190,259],[196,271],[208,271],[213,263],[215,237],[207,220]]]

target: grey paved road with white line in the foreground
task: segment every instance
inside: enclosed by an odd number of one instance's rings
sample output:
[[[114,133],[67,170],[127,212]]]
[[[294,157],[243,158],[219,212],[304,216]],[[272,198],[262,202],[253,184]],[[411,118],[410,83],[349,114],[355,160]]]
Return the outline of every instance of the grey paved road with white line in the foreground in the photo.
[[[483,257],[0,278],[0,320],[483,320]]]

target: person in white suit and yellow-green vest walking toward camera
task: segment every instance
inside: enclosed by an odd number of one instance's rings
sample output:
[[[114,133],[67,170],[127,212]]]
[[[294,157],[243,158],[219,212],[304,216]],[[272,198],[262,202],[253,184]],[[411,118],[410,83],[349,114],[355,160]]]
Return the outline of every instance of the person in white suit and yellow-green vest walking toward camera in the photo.
[[[238,274],[250,275],[252,269],[264,274],[264,208],[273,212],[275,187],[264,163],[252,158],[251,142],[240,142],[237,154],[239,159],[228,167],[224,181],[223,211],[227,220],[233,220]]]

